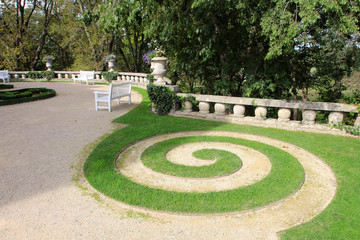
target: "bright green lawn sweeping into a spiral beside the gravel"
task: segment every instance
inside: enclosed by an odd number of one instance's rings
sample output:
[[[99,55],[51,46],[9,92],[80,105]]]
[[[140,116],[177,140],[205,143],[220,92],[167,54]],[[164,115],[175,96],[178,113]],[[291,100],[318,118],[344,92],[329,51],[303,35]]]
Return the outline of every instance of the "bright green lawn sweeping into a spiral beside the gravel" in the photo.
[[[262,206],[291,194],[303,181],[302,167],[294,157],[266,144],[241,139],[223,139],[223,141],[247,145],[264,153],[271,160],[273,168],[265,179],[252,186],[206,194],[167,192],[136,184],[116,171],[114,160],[126,146],[138,140],[164,133],[211,130],[268,136],[292,143],[314,153],[329,164],[338,180],[338,192],[330,206],[312,221],[286,231],[282,234],[282,238],[360,239],[358,231],[360,229],[360,221],[358,221],[360,217],[360,140],[358,138],[291,132],[168,116],[159,117],[151,113],[146,91],[137,90],[143,95],[143,102],[140,106],[114,120],[118,123],[128,124],[128,126],[115,131],[104,139],[93,150],[84,164],[85,177],[93,187],[105,195],[132,205],[173,212],[231,212]],[[211,138],[204,140],[209,141]],[[239,142],[236,143],[237,141]],[[164,146],[162,148],[166,149]],[[175,166],[175,169],[174,166],[160,167],[160,171],[181,172],[176,167],[178,166]],[[154,168],[157,168],[156,164]],[[231,169],[226,171],[231,171]],[[218,173],[214,169],[205,170],[205,172],[211,172],[211,175],[224,174]],[[288,172],[291,174],[287,174]],[[269,193],[275,193],[266,195],[264,198],[264,194],[260,193],[269,186],[272,190],[276,187],[276,191],[270,190]],[[239,196],[238,194],[241,194],[244,199],[235,204],[234,199]],[[169,200],[172,204],[169,204]]]

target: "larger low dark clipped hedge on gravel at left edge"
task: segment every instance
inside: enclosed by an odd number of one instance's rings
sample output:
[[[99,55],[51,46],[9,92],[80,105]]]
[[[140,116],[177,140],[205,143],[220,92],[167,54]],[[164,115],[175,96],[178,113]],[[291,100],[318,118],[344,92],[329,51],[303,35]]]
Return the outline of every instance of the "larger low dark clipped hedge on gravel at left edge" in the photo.
[[[0,106],[31,102],[54,97],[55,90],[47,88],[24,88],[0,92]]]

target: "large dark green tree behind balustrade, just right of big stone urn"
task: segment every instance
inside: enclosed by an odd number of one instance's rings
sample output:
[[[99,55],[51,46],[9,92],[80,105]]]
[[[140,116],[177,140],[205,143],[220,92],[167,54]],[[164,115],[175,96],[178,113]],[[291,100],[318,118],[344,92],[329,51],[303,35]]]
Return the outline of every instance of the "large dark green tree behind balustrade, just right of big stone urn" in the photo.
[[[178,76],[199,79],[207,92],[238,95],[260,32],[252,3],[238,1],[153,1],[149,31],[164,48]]]

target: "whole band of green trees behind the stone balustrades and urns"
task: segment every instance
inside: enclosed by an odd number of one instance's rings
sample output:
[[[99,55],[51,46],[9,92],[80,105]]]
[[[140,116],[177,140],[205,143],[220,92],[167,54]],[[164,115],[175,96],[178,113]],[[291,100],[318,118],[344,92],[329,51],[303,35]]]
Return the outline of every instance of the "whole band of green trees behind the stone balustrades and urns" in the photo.
[[[170,78],[201,93],[323,101],[359,63],[355,0],[0,0],[0,68],[149,72],[162,49]],[[195,88],[200,86],[200,88]],[[299,94],[299,91],[302,94]],[[300,96],[301,95],[301,96]]]

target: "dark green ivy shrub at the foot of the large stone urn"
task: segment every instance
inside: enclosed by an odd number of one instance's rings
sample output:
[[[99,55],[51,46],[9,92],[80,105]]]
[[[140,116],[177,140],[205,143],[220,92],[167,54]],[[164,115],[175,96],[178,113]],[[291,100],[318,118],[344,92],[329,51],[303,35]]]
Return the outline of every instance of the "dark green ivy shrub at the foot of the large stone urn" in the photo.
[[[149,83],[147,91],[156,113],[160,116],[168,114],[175,104],[181,101],[180,97],[165,86],[155,86]]]

